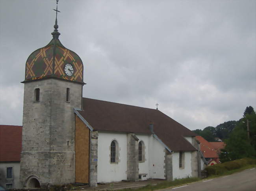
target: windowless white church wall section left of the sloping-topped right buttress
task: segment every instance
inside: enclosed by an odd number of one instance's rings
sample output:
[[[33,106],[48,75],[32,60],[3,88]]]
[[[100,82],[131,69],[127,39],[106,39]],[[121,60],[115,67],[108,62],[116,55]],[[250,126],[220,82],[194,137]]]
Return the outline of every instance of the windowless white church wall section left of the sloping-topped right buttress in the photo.
[[[165,147],[153,136],[149,140],[149,177],[165,179]]]

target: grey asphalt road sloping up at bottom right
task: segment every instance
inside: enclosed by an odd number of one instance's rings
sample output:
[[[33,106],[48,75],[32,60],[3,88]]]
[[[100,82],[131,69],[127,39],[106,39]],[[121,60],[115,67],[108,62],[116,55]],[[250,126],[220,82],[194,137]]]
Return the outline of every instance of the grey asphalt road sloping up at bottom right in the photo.
[[[256,168],[161,191],[256,191]]]

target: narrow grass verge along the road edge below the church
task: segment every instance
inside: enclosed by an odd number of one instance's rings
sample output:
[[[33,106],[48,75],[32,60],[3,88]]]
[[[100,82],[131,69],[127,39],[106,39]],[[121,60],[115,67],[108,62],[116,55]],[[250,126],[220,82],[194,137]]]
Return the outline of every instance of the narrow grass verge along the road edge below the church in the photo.
[[[241,167],[239,169],[225,171],[221,175],[208,176],[207,179],[217,178],[219,176],[231,175],[233,173],[237,173],[237,172],[243,171],[245,169],[250,169],[250,168],[253,168],[253,167],[256,167],[256,165],[255,164],[250,164],[250,165]],[[202,178],[197,178],[197,177],[181,178],[181,179],[175,179],[173,181],[163,181],[163,182],[161,182],[160,184],[157,184],[157,185],[147,185],[147,186],[137,188],[137,189],[125,188],[125,189],[120,189],[118,191],[154,191],[154,190],[165,189],[165,188],[174,187],[174,186],[182,186],[182,185],[186,185],[186,184],[189,184],[189,183],[192,183],[192,182],[198,182],[200,180],[202,180]]]

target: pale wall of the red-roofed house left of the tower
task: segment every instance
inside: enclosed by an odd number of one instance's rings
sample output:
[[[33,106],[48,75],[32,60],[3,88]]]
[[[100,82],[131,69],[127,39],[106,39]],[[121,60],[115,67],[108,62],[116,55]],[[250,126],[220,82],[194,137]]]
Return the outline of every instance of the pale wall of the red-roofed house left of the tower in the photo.
[[[13,178],[6,178],[7,167],[13,167]],[[13,184],[13,188],[19,188],[20,182],[20,162],[0,162],[0,186]]]

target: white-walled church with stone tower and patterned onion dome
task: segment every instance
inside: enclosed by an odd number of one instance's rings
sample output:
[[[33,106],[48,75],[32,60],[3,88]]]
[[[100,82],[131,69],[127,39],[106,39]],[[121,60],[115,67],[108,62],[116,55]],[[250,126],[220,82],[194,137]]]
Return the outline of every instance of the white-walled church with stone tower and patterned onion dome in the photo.
[[[200,143],[182,124],[83,98],[83,62],[59,35],[56,14],[52,40],[26,61],[20,187],[200,176]]]

